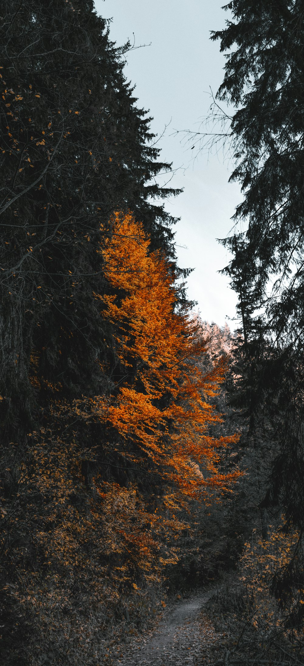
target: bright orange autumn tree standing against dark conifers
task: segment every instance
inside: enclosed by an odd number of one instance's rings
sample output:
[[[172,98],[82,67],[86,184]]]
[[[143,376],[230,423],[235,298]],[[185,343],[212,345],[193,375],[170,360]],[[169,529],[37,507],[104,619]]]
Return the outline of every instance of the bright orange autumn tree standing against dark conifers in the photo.
[[[120,372],[112,398],[97,401],[96,412],[116,432],[114,448],[126,467],[144,469],[150,482],[161,480],[158,500],[181,527],[179,508],[205,497],[210,487],[222,492],[237,478],[237,472],[218,472],[219,448],[237,436],[210,435],[210,426],[221,420],[212,398],[225,364],[208,374],[196,365],[204,343],[187,308],[176,308],[170,264],[149,246],[131,213],[114,214],[111,238],[99,250],[109,290],[95,296],[113,326]]]

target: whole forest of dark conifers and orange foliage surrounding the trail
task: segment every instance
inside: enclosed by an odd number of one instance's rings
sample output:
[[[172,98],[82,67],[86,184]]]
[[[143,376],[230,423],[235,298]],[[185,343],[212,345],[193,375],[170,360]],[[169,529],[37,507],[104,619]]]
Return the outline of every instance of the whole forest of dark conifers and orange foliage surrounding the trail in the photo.
[[[241,185],[235,331],[187,298],[130,43],[1,1],[3,666],[304,663],[304,3],[225,9],[188,139]],[[202,591],[202,648],[130,653]]]

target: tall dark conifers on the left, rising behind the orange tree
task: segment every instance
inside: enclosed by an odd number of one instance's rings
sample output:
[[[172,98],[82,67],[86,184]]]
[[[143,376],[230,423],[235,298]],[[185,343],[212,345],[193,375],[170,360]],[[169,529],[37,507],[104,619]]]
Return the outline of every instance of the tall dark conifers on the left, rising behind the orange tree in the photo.
[[[152,201],[176,194],[152,183],[170,166],[156,161],[123,49],[93,3],[16,1],[1,13],[0,392],[16,392],[16,375],[25,382],[17,392],[29,392],[33,346],[45,348],[41,372],[51,382],[61,368],[67,394],[80,381],[82,391],[100,392],[94,362],[106,332],[92,297],[104,290],[100,225],[130,208],[174,258],[173,220]],[[23,412],[12,407],[9,418],[24,420]]]

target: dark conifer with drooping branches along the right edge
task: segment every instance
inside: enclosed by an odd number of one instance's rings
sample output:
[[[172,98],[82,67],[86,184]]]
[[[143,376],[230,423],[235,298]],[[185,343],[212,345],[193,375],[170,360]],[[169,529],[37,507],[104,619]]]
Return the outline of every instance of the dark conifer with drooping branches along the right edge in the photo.
[[[303,531],[304,332],[304,5],[302,0],[235,0],[220,39],[226,55],[218,99],[235,111],[228,131],[243,200],[224,244],[239,296],[244,344],[240,404],[251,432],[277,442],[261,503],[284,511]],[[241,222],[237,227],[237,222]],[[245,227],[245,230],[243,228]],[[291,592],[303,581],[301,543],[288,572]],[[299,554],[300,553],[300,554]],[[303,582],[301,583],[301,585]],[[276,583],[277,593],[282,597]]]

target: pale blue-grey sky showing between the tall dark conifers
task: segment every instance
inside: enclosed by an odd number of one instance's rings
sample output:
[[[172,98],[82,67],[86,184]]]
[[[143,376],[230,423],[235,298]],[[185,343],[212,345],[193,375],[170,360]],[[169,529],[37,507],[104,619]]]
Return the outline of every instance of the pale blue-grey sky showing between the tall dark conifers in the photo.
[[[188,297],[196,300],[203,320],[237,326],[236,295],[218,273],[229,255],[216,238],[229,234],[238,184],[229,184],[233,164],[218,155],[191,151],[182,131],[196,131],[210,108],[210,89],[222,83],[225,64],[220,43],[210,31],[222,29],[228,17],[222,0],[95,0],[96,11],[112,18],[110,39],[130,39],[124,73],[135,85],[138,107],[150,110],[151,129],[159,137],[160,159],[172,164],[170,186],[184,188],[166,202],[180,217],[176,224],[178,264],[195,270],[188,278]],[[176,133],[178,130],[178,133]]]

